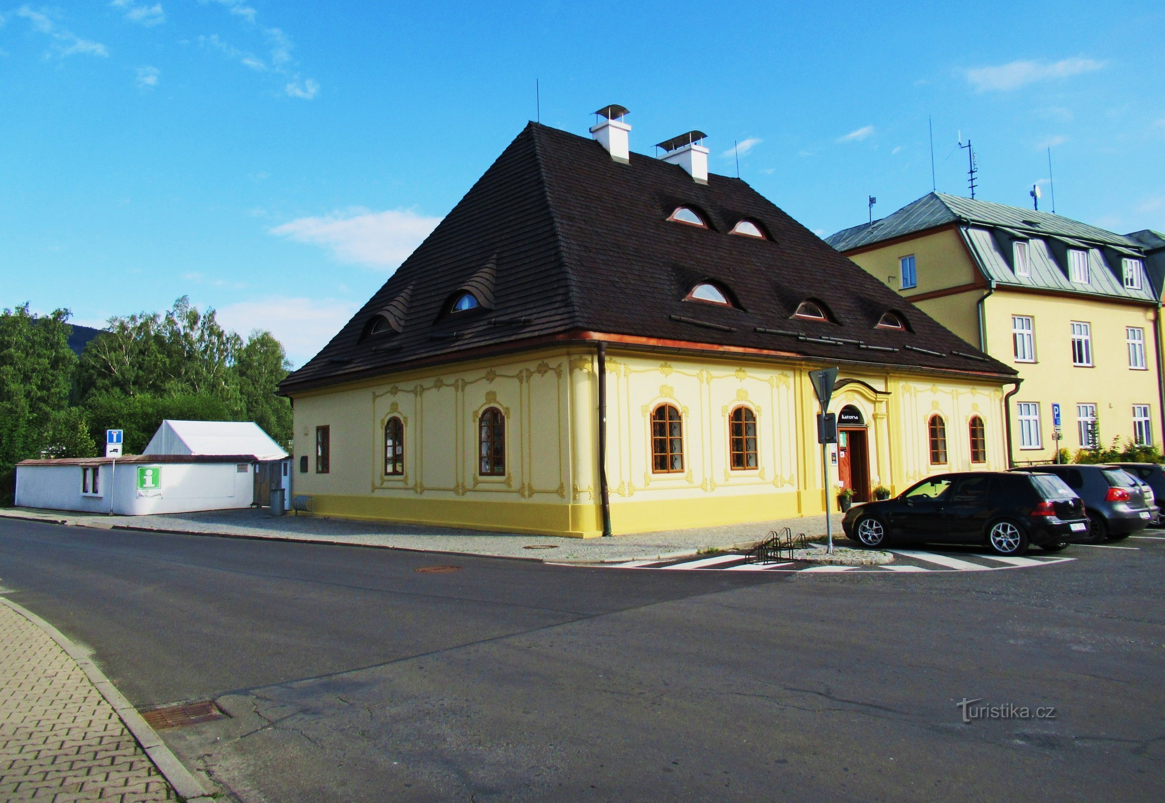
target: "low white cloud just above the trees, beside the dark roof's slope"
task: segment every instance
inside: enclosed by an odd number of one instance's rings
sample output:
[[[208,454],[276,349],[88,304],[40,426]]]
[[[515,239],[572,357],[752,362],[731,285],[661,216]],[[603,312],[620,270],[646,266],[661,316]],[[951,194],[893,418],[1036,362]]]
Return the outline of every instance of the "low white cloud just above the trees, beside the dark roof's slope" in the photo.
[[[346,324],[358,304],[336,298],[264,297],[262,301],[241,301],[219,309],[218,319],[224,326],[246,336],[266,329],[287,350],[295,365],[303,365],[315,357]]]

